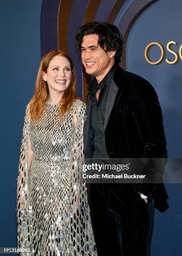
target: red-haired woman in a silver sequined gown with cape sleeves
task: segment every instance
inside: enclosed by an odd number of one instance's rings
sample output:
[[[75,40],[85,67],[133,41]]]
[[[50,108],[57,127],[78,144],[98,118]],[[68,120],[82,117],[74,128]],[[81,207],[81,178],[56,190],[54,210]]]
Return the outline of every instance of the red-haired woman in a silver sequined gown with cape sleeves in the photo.
[[[82,181],[85,104],[70,56],[43,56],[27,105],[17,185],[22,255],[97,255]]]

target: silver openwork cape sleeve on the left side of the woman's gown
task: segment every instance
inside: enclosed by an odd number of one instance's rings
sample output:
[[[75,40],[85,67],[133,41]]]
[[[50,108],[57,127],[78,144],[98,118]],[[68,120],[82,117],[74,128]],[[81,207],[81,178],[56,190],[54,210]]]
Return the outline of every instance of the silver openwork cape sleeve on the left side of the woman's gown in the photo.
[[[31,250],[30,225],[32,206],[30,205],[30,188],[28,177],[33,153],[30,146],[29,126],[30,110],[29,105],[27,105],[17,177],[17,242],[18,248],[25,249],[25,252],[22,253],[22,255],[30,255],[28,251]]]

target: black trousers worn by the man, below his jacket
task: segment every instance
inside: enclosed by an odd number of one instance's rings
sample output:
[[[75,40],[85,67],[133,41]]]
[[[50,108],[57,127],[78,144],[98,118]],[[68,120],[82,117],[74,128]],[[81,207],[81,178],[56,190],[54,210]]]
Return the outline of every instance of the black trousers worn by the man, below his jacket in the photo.
[[[146,203],[131,184],[88,184],[98,256],[148,256],[154,200]]]

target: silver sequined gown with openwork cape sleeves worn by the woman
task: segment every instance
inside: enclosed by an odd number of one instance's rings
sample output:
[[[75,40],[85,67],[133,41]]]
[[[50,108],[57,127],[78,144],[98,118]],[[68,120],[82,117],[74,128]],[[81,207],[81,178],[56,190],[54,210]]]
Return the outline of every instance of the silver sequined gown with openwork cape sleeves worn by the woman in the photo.
[[[85,104],[75,100],[61,119],[46,103],[37,123],[26,109],[17,185],[21,255],[97,255],[85,183],[82,128]],[[28,168],[28,143],[33,151]]]

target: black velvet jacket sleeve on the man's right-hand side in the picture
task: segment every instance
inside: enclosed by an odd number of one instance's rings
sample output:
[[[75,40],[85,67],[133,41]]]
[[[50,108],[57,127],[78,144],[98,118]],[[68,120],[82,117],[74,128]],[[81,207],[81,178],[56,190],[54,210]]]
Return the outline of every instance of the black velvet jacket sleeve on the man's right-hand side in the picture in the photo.
[[[162,120],[162,110],[157,94],[146,80],[132,84],[130,108],[137,123],[144,146],[143,158],[166,158],[166,139]],[[136,189],[150,197],[157,184],[136,184]]]

